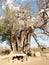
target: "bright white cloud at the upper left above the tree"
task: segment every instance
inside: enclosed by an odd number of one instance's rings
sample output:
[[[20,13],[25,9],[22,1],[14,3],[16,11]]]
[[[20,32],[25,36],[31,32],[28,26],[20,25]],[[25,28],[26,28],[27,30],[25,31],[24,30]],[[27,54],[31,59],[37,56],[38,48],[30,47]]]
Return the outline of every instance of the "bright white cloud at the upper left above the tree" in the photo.
[[[6,5],[8,5],[10,10],[18,10],[19,11],[20,7],[19,6],[15,6],[13,3],[14,3],[14,0],[7,0],[6,4],[2,5],[2,8],[5,10]]]

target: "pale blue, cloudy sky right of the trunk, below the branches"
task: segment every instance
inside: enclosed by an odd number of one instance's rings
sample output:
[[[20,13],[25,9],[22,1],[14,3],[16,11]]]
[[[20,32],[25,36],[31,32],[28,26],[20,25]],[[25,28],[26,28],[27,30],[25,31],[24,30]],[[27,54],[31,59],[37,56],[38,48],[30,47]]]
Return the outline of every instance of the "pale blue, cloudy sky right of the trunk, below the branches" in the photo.
[[[44,32],[43,30],[37,28],[35,30],[35,33],[37,33],[36,39],[38,40],[40,45],[44,45],[46,47],[49,47],[49,37],[46,34],[41,34],[43,32]],[[40,34],[38,34],[38,33],[40,33]],[[31,47],[37,47],[38,46],[33,36],[31,36],[30,43],[31,43]]]

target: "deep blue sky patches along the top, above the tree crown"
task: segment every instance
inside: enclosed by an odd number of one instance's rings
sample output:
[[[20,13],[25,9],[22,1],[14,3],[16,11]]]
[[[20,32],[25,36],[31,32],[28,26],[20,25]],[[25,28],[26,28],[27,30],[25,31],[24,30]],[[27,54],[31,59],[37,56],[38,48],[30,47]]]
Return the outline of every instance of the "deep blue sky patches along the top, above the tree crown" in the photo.
[[[26,4],[27,0],[13,0],[15,3],[20,3],[20,4]],[[5,4],[6,0],[2,0],[2,3]],[[38,6],[37,3],[33,0],[33,1],[29,1],[29,3],[32,5],[34,12],[38,12]],[[0,16],[4,15],[4,10],[2,9],[2,7],[0,6]]]

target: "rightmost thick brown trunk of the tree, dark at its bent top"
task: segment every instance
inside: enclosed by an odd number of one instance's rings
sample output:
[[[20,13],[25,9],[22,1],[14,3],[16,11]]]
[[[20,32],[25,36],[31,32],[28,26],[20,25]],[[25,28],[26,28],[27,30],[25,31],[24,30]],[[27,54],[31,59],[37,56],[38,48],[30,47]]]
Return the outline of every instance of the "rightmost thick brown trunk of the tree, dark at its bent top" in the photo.
[[[27,51],[30,49],[30,37],[31,37],[31,34],[32,34],[32,28],[31,27],[28,27],[26,30],[25,30],[25,40],[24,40],[24,51],[25,53],[27,53]]]

